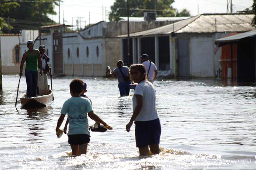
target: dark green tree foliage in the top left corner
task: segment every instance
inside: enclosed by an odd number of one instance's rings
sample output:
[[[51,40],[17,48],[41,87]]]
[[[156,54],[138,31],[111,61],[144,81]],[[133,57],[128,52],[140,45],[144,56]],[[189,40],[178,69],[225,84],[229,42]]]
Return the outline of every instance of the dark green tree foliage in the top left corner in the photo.
[[[39,28],[39,0],[0,1],[0,28],[4,33],[18,33],[21,29]],[[47,14],[55,15],[58,0],[41,1],[41,25],[54,23]]]

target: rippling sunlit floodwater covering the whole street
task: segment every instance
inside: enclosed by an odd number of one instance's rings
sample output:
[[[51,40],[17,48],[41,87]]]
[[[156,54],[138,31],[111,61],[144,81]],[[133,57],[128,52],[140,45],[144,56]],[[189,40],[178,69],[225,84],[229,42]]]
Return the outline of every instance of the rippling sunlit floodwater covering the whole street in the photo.
[[[72,77],[53,78],[52,104],[27,110],[19,100],[26,92],[25,76],[17,107],[19,76],[3,76],[0,169],[255,169],[256,87],[222,86],[212,79],[155,81],[162,152],[140,158],[134,124],[130,133],[125,130],[133,91],[120,98],[117,79],[82,79],[94,112],[113,130],[90,132],[87,155],[71,157],[67,135],[58,139],[55,127],[70,98]]]

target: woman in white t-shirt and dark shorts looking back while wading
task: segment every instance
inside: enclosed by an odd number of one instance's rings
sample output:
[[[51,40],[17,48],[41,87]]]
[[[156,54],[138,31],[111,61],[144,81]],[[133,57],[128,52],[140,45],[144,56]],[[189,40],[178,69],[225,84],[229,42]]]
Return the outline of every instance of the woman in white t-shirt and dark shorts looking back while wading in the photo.
[[[129,132],[134,121],[136,147],[140,156],[149,155],[149,149],[153,154],[158,154],[161,136],[161,124],[156,110],[156,90],[152,83],[148,82],[146,69],[143,64],[130,66],[130,75],[134,83],[138,83],[132,98],[133,114],[126,125]]]

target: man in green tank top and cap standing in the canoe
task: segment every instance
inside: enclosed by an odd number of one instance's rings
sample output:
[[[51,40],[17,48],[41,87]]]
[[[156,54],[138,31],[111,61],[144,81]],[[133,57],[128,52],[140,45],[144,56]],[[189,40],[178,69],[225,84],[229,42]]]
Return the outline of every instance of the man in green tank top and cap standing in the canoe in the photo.
[[[20,63],[20,76],[22,76],[22,70],[24,62],[26,61],[25,77],[27,83],[27,95],[26,97],[36,97],[37,76],[38,68],[40,69],[39,75],[42,76],[42,60],[40,52],[34,49],[34,41],[29,40],[27,42],[28,51],[26,51],[21,59]]]

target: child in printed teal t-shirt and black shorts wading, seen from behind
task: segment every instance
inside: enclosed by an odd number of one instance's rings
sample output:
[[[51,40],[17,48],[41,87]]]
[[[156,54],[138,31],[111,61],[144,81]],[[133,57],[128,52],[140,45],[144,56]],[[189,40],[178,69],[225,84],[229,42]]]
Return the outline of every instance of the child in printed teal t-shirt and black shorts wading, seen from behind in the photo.
[[[90,132],[88,126],[88,116],[95,122],[103,124],[107,129],[112,129],[99,116],[93,113],[92,105],[89,99],[81,97],[84,82],[80,79],[74,79],[70,85],[71,98],[66,100],[61,109],[61,115],[56,126],[56,134],[64,120],[66,114],[69,119],[68,143],[71,146],[73,155],[86,154],[87,144],[90,142]],[[57,137],[58,134],[57,134]]]

